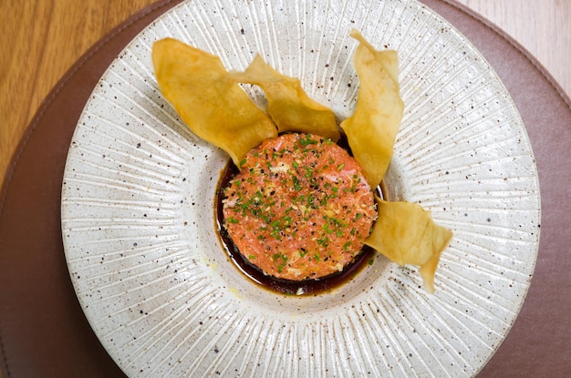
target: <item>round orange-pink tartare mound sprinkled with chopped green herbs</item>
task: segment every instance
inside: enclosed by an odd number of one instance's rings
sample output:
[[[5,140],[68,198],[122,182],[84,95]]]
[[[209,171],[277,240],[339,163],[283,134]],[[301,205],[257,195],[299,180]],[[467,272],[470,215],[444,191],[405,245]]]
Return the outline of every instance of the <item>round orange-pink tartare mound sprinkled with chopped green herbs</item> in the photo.
[[[224,227],[244,258],[293,281],[342,271],[377,214],[357,161],[312,134],[284,134],[252,149],[224,197]]]

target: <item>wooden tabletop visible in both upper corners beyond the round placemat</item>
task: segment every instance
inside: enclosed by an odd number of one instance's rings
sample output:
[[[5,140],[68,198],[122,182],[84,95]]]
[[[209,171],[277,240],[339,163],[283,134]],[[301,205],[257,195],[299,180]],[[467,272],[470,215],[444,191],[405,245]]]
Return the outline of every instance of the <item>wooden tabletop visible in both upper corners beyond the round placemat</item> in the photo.
[[[459,0],[532,52],[571,94],[571,2]],[[41,101],[79,56],[153,0],[0,2],[0,179]],[[1,375],[1,373],[0,373]],[[0,376],[1,378],[1,376]]]

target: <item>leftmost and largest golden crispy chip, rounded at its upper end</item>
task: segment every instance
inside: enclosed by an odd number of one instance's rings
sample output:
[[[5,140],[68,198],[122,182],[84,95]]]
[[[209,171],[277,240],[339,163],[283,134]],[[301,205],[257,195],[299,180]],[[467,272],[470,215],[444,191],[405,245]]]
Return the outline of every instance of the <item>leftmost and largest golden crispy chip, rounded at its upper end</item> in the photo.
[[[234,80],[220,58],[172,39],[152,46],[162,95],[198,137],[223,148],[239,166],[245,154],[277,130]]]

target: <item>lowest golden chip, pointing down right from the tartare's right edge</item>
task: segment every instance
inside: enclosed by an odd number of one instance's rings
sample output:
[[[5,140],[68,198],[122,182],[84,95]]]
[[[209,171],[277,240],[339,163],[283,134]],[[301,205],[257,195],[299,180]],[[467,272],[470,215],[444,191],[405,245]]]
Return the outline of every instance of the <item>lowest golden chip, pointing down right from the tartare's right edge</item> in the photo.
[[[420,205],[377,200],[379,218],[365,244],[400,265],[420,266],[424,289],[434,292],[434,273],[452,230],[434,223]]]

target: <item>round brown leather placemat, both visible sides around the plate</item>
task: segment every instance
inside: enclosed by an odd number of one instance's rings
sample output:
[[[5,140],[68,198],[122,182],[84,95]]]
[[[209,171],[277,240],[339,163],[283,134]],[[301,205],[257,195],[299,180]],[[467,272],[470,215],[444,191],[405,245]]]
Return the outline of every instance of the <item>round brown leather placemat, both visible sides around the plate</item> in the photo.
[[[60,190],[67,148],[92,88],[144,27],[180,0],[133,15],[59,82],[26,131],[0,197],[0,366],[5,378],[124,377],[81,311],[67,273]],[[479,16],[423,0],[483,53],[532,141],[542,195],[541,242],[524,307],[479,377],[571,376],[571,107],[553,78]]]

